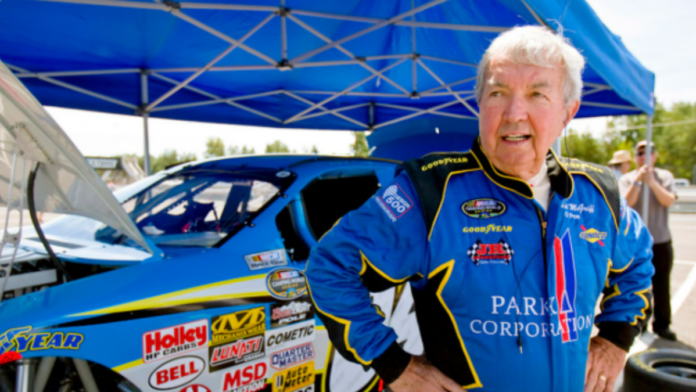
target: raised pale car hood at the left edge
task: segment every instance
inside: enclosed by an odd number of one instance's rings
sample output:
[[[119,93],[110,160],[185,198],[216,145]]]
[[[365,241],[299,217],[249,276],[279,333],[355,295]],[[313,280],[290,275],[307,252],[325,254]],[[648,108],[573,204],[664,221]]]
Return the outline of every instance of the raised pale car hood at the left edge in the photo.
[[[33,163],[40,163],[34,187],[37,211],[96,219],[152,253],[151,247],[104,181],[87,164],[60,126],[2,62],[0,145],[0,205],[8,204],[13,156],[18,152],[17,163],[21,164],[24,160],[25,164],[22,169],[14,170],[15,184],[26,181]],[[14,188],[15,191],[20,190],[19,186]]]

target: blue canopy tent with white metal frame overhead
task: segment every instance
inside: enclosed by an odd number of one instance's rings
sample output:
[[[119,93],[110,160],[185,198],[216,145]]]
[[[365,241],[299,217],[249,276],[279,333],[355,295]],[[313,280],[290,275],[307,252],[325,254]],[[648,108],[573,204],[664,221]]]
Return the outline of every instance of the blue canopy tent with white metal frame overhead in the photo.
[[[468,148],[476,64],[524,24],[562,25],[587,58],[578,117],[653,112],[654,75],[584,0],[4,0],[0,15],[0,60],[29,90],[142,116],[146,162],[148,117],[371,130],[382,157]]]

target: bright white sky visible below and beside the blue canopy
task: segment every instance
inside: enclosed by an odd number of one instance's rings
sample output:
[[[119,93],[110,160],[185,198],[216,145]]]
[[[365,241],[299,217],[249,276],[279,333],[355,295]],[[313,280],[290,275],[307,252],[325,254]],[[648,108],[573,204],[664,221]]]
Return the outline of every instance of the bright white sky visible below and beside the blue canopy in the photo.
[[[576,0],[577,1],[577,0]],[[694,0],[586,0],[609,29],[621,37],[633,55],[656,74],[655,96],[670,106],[696,101],[696,15]],[[142,119],[72,109],[48,108],[49,113],[86,156],[142,154]],[[601,134],[606,119],[573,120],[570,127]],[[263,152],[266,144],[281,140],[291,150],[308,152],[315,145],[321,154],[348,154],[353,135],[345,131],[278,130],[150,119],[150,154],[165,150],[202,157],[205,143],[220,137],[226,145],[246,145]]]

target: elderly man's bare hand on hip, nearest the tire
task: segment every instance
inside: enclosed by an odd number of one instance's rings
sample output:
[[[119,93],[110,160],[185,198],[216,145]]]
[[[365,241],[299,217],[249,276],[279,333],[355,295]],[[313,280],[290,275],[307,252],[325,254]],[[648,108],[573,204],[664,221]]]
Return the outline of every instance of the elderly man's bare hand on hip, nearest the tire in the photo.
[[[585,392],[612,392],[626,361],[626,351],[596,336],[590,340]]]

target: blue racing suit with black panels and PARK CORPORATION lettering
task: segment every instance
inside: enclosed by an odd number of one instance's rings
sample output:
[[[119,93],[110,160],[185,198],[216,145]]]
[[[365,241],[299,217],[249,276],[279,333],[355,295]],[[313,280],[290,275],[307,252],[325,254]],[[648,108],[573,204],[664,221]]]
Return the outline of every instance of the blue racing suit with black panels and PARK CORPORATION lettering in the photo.
[[[608,168],[552,152],[547,165],[548,211],[476,141],[405,163],[348,213],[306,270],[339,352],[387,383],[403,372],[410,355],[369,292],[407,281],[426,357],[465,389],[582,391],[593,325],[628,351],[650,311],[652,238]]]

